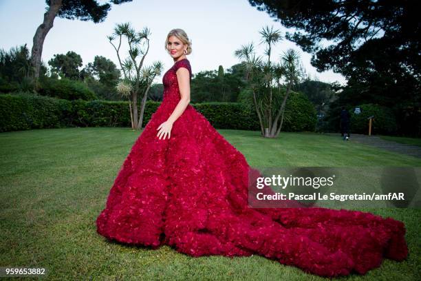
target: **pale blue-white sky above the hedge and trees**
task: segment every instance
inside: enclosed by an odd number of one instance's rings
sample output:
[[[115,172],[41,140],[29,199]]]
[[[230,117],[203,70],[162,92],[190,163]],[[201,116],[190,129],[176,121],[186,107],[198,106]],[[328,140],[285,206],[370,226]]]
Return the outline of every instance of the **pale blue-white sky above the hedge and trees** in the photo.
[[[46,7],[45,0],[0,0],[0,48],[8,51],[11,47],[27,43],[31,50],[32,39],[36,28],[43,22]],[[109,43],[107,35],[113,33],[117,23],[125,22],[130,22],[136,31],[144,27],[151,30],[149,52],[144,65],[161,61],[164,63],[162,74],[173,65],[173,59],[164,50],[166,34],[173,28],[182,28],[192,41],[193,52],[187,58],[193,74],[217,70],[219,65],[226,70],[239,63],[234,55],[235,50],[250,42],[257,46],[257,55],[267,59],[263,54],[264,45],[258,45],[261,41],[259,30],[266,25],[273,26],[281,31],[282,36],[287,30],[266,12],[250,6],[247,0],[133,0],[119,6],[112,5],[107,19],[102,23],[56,17],[53,28],[45,38],[42,59],[47,63],[54,54],[74,51],[82,57],[83,66],[94,61],[94,57],[98,55],[114,61],[120,68],[116,51]],[[346,83],[341,74],[332,71],[317,72],[310,65],[311,55],[286,39],[272,47],[271,60],[278,60],[280,54],[289,48],[299,52],[303,66],[312,79],[316,77],[327,83]],[[127,52],[121,55],[126,57]],[[161,82],[162,75],[155,79],[155,83]]]

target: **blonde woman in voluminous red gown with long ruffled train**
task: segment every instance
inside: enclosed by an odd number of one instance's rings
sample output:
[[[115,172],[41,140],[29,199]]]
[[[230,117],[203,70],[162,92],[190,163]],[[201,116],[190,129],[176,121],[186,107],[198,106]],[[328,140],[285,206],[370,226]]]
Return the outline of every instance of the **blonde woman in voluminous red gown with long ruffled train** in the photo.
[[[97,231],[109,240],[191,256],[258,254],[323,276],[364,274],[382,258],[407,257],[404,224],[361,211],[251,208],[241,152],[189,105],[191,43],[171,30],[174,65],[164,99],[131,148]]]

